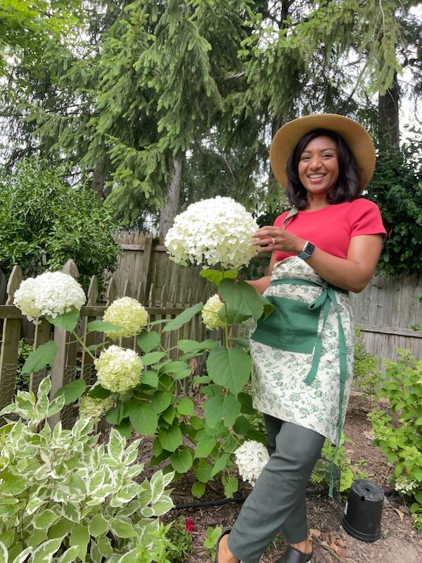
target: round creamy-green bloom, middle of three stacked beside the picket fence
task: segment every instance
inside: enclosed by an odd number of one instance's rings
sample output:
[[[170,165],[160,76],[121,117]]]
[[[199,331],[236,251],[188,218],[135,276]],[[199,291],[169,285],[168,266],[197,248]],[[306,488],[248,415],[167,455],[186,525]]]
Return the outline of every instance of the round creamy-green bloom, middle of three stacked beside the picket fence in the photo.
[[[94,360],[98,383],[113,393],[124,393],[139,384],[143,363],[134,350],[110,346]]]

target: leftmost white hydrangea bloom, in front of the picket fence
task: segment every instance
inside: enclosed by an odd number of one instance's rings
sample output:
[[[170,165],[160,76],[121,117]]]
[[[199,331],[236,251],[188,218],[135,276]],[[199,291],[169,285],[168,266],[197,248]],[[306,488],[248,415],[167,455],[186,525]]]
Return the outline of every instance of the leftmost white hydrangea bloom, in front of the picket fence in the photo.
[[[63,272],[44,272],[30,277],[15,291],[13,303],[30,321],[44,315],[63,315],[72,308],[78,311],[85,303],[82,287],[69,274]]]

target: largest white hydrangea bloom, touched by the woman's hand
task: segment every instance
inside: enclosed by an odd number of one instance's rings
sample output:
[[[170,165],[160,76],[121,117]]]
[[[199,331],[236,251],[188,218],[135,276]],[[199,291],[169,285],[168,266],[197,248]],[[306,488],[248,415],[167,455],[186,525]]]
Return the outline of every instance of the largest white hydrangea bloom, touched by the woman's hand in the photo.
[[[257,223],[243,205],[217,196],[192,203],[174,219],[165,245],[170,259],[181,265],[218,263],[238,269],[257,253],[251,235]]]

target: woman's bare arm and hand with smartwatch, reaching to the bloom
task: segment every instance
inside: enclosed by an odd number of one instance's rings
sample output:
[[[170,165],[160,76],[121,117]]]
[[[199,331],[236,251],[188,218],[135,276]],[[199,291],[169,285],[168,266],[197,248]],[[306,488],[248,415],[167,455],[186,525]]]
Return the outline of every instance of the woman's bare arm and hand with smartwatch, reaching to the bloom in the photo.
[[[273,237],[274,246],[268,246]],[[300,239],[299,236],[280,227],[262,227],[254,234],[254,244],[259,246],[262,252],[283,251],[300,254],[305,242],[305,239]],[[321,248],[315,248],[312,256],[306,261],[328,283],[359,293],[366,287],[375,272],[382,245],[381,234],[353,236],[350,239],[347,258],[338,258],[322,251]]]

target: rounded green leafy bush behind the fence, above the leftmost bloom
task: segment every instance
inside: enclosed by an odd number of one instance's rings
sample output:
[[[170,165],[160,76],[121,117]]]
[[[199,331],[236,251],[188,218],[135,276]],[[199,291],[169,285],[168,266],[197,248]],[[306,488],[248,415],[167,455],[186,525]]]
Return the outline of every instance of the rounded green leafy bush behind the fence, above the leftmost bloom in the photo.
[[[0,265],[18,264],[24,275],[60,270],[72,258],[82,284],[113,270],[118,246],[115,223],[93,191],[73,188],[64,167],[25,160],[0,175]]]

